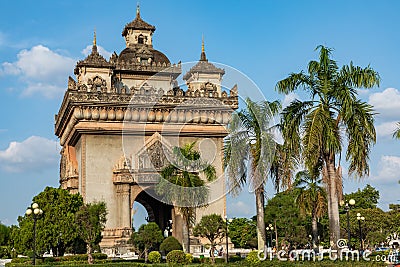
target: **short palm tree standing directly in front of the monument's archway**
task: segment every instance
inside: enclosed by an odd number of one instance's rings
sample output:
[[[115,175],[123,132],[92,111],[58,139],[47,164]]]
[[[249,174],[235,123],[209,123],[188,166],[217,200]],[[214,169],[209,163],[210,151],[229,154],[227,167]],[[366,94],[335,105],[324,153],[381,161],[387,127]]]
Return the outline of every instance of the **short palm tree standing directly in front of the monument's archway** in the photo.
[[[194,149],[195,144],[173,148],[174,162],[162,169],[163,179],[156,186],[156,193],[163,201],[173,203],[183,217],[187,253],[190,253],[190,227],[196,221],[196,208],[208,204],[209,189],[200,175],[208,182],[216,178],[214,166],[203,162],[200,153]]]

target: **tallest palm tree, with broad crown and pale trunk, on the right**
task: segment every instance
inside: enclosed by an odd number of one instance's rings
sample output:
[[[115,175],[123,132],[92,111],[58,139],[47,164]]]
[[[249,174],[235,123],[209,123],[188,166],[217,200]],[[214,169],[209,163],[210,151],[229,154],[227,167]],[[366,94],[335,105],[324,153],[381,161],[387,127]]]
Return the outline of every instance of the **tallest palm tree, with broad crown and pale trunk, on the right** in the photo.
[[[356,88],[379,86],[379,74],[369,66],[340,70],[332,50],[318,46],[319,61],[310,61],[307,73],[292,73],[276,90],[288,94],[303,89],[309,101],[293,101],[282,112],[282,135],[290,153],[305,159],[311,175],[322,171],[328,195],[331,245],[340,238],[338,202],[341,197],[340,155],[346,138],[349,175],[369,175],[369,152],[376,141],[372,106],[357,99]],[[299,149],[300,148],[300,149]]]

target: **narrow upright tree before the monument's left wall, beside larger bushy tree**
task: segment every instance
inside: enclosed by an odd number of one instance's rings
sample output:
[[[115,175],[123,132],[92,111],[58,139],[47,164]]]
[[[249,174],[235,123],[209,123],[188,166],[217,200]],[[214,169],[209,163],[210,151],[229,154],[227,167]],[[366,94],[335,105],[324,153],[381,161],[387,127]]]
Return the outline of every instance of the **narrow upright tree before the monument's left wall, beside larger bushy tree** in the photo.
[[[88,263],[93,264],[93,247],[102,239],[101,232],[107,222],[107,208],[105,202],[87,203],[81,206],[75,214],[78,233],[85,241],[88,254]]]

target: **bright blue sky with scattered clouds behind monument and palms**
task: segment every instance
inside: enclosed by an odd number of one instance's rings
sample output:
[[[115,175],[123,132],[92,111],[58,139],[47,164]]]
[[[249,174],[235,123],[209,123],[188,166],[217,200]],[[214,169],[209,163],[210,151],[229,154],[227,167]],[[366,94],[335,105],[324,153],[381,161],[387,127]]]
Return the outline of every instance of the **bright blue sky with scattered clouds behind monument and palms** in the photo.
[[[204,35],[207,57],[252,79],[267,99],[287,103],[276,82],[306,68],[317,45],[334,48],[339,65],[370,64],[379,88],[361,91],[373,104],[377,144],[371,175],[350,181],[345,192],[366,183],[381,193],[380,207],[400,199],[400,141],[391,138],[400,121],[399,1],[140,1],[142,18],[156,26],[154,47],[171,62],[198,60]],[[68,76],[85,57],[93,29],[102,53],[119,53],[124,25],[136,1],[0,2],[0,221],[16,223],[34,195],[58,186],[59,147],[54,135]],[[246,90],[245,88],[239,88]],[[269,187],[268,196],[273,196]],[[230,199],[230,217],[253,216],[246,192]]]

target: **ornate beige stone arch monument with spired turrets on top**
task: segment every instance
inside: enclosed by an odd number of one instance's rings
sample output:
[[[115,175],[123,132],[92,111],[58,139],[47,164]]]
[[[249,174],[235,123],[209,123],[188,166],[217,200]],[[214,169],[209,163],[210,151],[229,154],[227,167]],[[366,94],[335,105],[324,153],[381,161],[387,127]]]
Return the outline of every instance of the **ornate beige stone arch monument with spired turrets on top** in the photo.
[[[204,45],[200,61],[184,75],[188,89],[180,88],[181,65],[153,48],[154,31],[138,9],[122,32],[126,48],[109,60],[98,53],[95,36],[91,54],[76,64],[76,78],[69,77],[56,115],[61,187],[79,192],[85,202],[106,202],[104,249],[124,246],[135,201],[163,230],[172,219],[173,235],[183,240],[181,215],[154,197],[173,146],[197,141],[202,156],[212,154],[208,159],[220,179],[210,185],[213,201],[198,217],[225,215],[223,138],[238,107],[237,88],[221,89],[224,70],[208,62]]]

